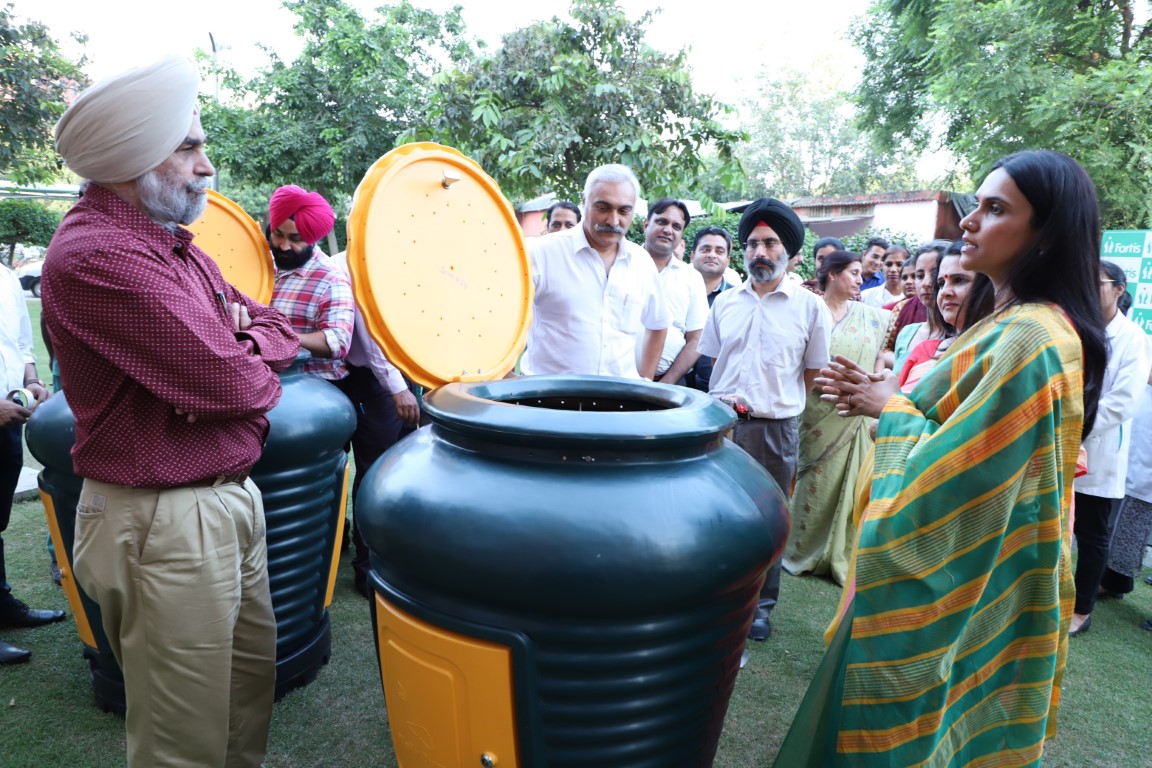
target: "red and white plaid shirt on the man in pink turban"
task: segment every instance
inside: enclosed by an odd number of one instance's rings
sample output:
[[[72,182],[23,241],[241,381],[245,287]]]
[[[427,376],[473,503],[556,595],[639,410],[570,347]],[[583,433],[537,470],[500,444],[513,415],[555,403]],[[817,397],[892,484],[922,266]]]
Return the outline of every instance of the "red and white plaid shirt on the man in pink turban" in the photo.
[[[304,372],[338,381],[348,375],[344,357],[353,339],[356,303],[353,287],[339,267],[316,253],[304,266],[276,271],[272,306],[283,312],[297,334],[324,332],[332,357],[313,357]]]

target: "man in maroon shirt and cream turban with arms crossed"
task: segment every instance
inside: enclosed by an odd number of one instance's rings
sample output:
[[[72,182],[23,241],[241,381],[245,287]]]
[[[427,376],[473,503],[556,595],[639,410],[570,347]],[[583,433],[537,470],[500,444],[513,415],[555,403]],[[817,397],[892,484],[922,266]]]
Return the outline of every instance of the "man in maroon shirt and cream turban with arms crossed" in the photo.
[[[300,343],[180,226],[214,173],[197,86],[169,58],[65,113],[56,149],[89,183],[48,248],[43,306],[84,478],[74,572],[124,672],[128,765],[255,768],[275,618],[248,472]]]

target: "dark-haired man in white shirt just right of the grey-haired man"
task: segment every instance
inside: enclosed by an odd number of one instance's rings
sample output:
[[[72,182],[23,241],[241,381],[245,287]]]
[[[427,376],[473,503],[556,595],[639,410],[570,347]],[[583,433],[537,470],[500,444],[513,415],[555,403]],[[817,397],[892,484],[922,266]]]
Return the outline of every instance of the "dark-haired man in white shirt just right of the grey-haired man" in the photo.
[[[660,287],[670,320],[655,372],[655,380],[660,383],[687,385],[684,375],[700,356],[696,344],[708,317],[704,277],[676,256],[684,242],[684,227],[690,220],[687,205],[666,197],[649,206],[644,223],[644,250],[660,273]],[[639,355],[641,350],[636,351]]]

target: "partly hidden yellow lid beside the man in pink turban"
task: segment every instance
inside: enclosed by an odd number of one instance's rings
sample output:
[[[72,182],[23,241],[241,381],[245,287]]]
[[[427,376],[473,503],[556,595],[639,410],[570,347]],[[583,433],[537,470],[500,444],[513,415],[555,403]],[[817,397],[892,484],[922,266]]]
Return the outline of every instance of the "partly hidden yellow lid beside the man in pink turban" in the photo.
[[[275,267],[260,226],[227,197],[209,190],[204,215],[188,225],[196,244],[212,257],[223,279],[260,304],[272,301]]]

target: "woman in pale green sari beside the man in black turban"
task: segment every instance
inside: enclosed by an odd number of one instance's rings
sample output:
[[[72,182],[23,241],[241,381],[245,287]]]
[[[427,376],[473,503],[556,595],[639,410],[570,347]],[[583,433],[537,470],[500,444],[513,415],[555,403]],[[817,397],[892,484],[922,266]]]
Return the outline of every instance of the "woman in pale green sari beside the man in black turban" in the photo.
[[[884,339],[892,313],[851,301],[859,292],[861,273],[858,254],[835,251],[824,257],[817,279],[832,314],[831,352],[879,372],[885,370]],[[856,538],[852,489],[872,444],[870,423],[863,416],[842,418],[819,393],[808,394],[789,503],[793,529],[783,558],[793,576],[814,573],[844,583]]]

